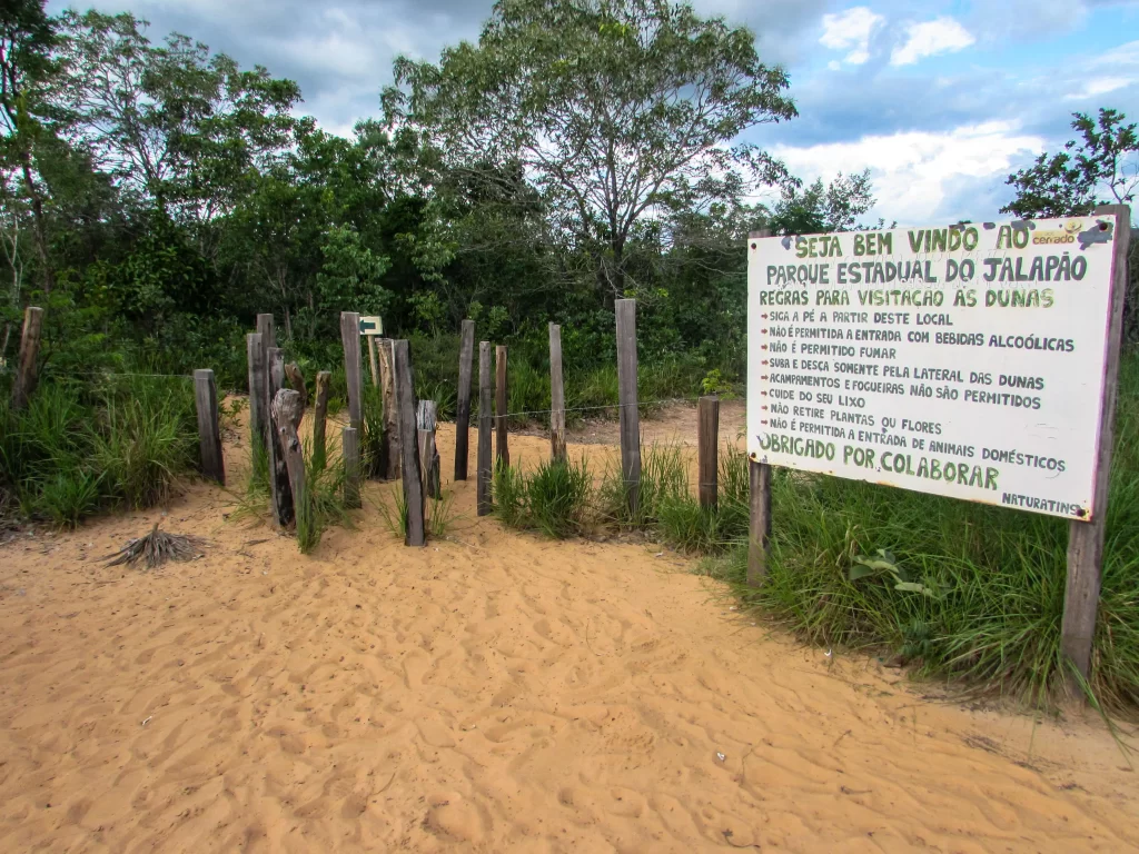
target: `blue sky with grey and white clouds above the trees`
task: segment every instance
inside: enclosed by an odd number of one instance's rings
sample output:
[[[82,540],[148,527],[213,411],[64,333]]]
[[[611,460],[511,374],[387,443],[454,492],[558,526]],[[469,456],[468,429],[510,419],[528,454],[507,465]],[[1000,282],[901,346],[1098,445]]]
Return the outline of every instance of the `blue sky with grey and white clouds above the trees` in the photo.
[[[1072,113],[1139,120],[1139,0],[691,0],[755,33],[800,116],[743,139],[805,180],[869,169],[870,219],[995,219],[1008,174],[1071,139]],[[58,13],[91,3],[49,0]],[[179,31],[301,84],[301,112],[350,136],[400,54],[475,41],[492,0],[100,0],[159,41]]]

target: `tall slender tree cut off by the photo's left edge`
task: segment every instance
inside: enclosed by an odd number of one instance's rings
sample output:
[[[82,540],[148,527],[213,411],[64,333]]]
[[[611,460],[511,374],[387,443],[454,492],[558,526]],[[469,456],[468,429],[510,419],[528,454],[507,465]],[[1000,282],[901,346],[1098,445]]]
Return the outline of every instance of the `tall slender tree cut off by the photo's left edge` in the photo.
[[[41,90],[54,71],[51,50],[56,33],[43,11],[43,0],[5,0],[0,5],[0,167],[16,170],[32,208],[35,249],[43,291],[55,287],[55,268],[48,248],[46,191],[35,167],[43,128]],[[7,179],[5,179],[7,183]]]

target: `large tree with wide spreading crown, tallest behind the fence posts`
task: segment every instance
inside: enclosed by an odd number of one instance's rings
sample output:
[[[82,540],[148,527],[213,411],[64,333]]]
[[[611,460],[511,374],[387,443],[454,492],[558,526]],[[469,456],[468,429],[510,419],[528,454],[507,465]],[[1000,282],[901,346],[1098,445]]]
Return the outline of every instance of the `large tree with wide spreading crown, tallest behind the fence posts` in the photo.
[[[755,38],[671,0],[498,0],[478,44],[439,65],[401,57],[383,102],[452,170],[532,176],[551,237],[593,258],[608,297],[646,216],[737,198],[786,179],[735,143],[796,115],[787,75]],[[487,169],[489,167],[489,169]]]

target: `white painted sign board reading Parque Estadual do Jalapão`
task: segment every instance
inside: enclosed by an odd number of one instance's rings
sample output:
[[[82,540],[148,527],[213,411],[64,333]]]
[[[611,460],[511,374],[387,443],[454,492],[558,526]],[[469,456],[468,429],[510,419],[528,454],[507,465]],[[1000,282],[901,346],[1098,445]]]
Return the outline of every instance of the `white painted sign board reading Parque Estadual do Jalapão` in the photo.
[[[1113,229],[752,238],[749,455],[1089,520]]]

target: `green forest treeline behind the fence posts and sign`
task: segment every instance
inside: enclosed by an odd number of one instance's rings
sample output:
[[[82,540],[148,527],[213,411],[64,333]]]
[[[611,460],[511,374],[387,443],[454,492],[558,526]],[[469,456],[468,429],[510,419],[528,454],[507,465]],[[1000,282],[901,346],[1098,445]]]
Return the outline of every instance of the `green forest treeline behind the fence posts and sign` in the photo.
[[[349,139],[295,82],[125,13],[9,0],[0,75],[0,358],[42,305],[49,375],[212,367],[238,387],[257,312],[328,362],[345,310],[408,336],[473,318],[535,352],[552,320],[584,369],[612,362],[613,301],[634,296],[644,360],[741,379],[747,232],[874,205],[866,173],[805,186],[739,141],[794,120],[790,81],[748,30],[670,0],[500,0],[477,43],[399,58]],[[1092,156],[1042,155],[1009,210],[1126,189],[1103,164],[1134,125],[1080,118]]]

